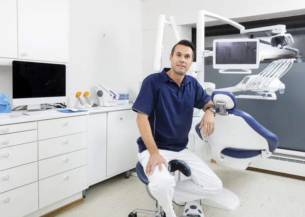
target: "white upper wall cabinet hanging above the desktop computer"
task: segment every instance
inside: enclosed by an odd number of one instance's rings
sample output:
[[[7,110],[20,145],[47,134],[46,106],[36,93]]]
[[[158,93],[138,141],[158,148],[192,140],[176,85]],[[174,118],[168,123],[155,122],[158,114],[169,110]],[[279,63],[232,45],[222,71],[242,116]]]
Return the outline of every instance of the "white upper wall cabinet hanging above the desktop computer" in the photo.
[[[0,19],[0,57],[69,62],[69,0],[0,0]]]

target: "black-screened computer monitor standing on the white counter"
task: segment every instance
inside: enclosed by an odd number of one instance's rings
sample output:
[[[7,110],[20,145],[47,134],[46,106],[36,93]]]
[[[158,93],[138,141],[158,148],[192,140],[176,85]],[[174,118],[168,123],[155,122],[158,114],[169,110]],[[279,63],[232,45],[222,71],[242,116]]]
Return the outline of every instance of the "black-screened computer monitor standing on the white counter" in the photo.
[[[41,104],[66,102],[66,66],[13,61],[13,105],[39,110]]]

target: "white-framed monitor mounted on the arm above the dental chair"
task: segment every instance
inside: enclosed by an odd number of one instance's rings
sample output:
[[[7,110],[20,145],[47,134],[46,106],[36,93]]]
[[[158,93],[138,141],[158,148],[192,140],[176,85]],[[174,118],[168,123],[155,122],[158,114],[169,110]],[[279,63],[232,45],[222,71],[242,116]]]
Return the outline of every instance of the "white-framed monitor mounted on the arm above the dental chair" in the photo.
[[[257,69],[258,39],[218,39],[213,42],[214,69]]]

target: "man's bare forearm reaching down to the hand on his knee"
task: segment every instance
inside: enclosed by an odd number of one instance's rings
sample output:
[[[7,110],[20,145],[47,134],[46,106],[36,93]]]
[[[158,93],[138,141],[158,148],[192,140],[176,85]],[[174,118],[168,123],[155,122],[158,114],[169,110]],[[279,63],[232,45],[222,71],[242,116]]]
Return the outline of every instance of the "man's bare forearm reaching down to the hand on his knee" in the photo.
[[[149,121],[147,118],[137,118],[138,128],[141,134],[141,137],[146,145],[146,148],[151,156],[151,154],[159,153],[158,147],[154,140],[153,134],[151,133]]]

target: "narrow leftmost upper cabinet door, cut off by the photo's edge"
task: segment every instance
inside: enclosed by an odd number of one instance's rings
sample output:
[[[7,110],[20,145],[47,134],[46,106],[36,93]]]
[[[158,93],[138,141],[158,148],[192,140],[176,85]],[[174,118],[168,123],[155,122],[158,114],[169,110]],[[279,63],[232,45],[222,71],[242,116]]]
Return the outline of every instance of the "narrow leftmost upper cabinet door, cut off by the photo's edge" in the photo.
[[[0,0],[0,57],[17,58],[17,0]]]

